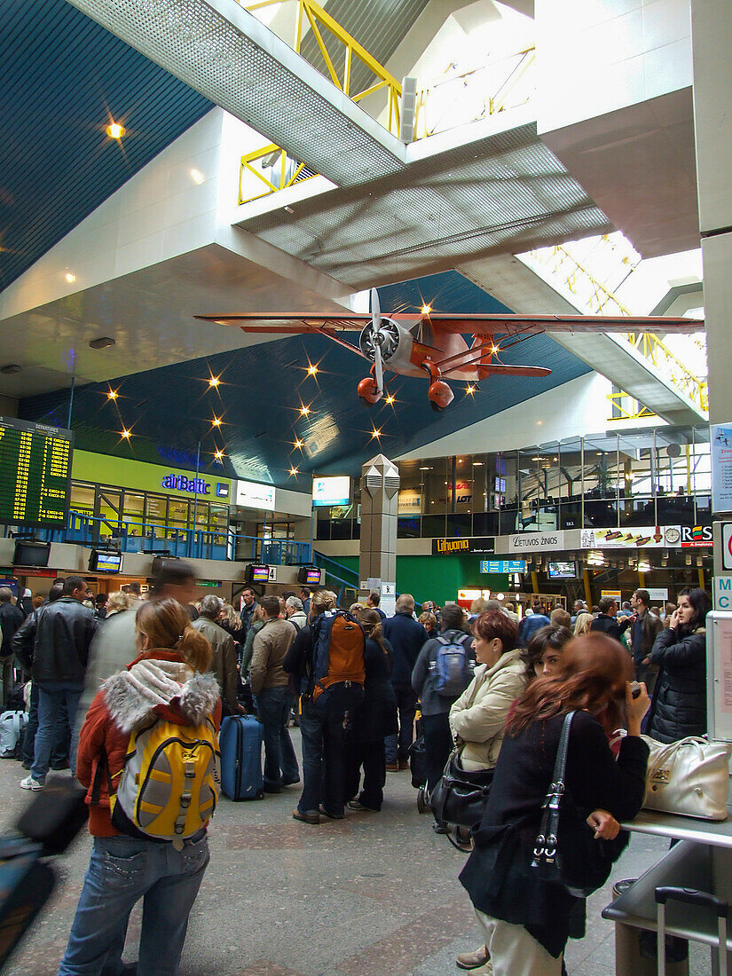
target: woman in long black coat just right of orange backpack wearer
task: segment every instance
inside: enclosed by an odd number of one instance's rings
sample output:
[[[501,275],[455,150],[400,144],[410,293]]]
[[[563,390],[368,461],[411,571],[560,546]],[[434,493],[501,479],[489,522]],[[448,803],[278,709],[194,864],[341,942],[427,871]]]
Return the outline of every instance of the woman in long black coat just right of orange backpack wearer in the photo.
[[[366,679],[364,700],[352,712],[346,735],[344,802],[350,810],[378,812],[386,783],[384,737],[397,731],[396,698],[388,677],[391,645],[382,636],[382,618],[376,610],[362,610],[358,619],[366,632]],[[361,766],[363,788],[358,793]]]

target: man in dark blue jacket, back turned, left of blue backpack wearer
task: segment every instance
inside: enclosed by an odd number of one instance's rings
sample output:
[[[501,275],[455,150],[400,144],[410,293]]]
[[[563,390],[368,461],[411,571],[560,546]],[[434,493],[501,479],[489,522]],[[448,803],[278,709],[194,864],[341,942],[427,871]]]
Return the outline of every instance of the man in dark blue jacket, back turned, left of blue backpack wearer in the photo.
[[[414,738],[417,695],[412,688],[412,671],[427,643],[427,630],[414,617],[414,596],[402,593],[396,599],[396,613],[384,622],[384,636],[393,648],[391,687],[399,712],[399,736],[386,736],[386,769],[395,773],[409,767],[409,747]]]

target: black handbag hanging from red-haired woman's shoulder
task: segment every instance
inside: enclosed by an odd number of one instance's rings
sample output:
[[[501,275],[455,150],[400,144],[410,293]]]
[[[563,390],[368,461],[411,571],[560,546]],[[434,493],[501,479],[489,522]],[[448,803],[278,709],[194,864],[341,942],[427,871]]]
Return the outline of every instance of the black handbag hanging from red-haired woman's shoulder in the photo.
[[[564,716],[531,867],[543,881],[562,885],[575,898],[587,898],[607,881],[628,846],[630,834],[621,831],[615,840],[595,839],[586,814],[566,792],[564,777],[573,716],[574,712]]]

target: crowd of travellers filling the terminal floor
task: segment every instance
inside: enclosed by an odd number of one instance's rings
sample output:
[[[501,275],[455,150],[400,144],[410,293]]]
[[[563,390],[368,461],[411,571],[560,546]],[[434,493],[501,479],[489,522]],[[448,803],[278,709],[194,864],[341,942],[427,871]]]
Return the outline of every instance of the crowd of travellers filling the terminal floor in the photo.
[[[599,843],[642,803],[641,722],[661,742],[706,731],[704,590],[681,590],[663,612],[646,590],[622,607],[578,600],[571,615],[537,602],[520,621],[510,602],[482,599],[469,613],[427,601],[418,616],[407,593],[388,617],[378,593],[347,613],[330,590],[246,588],[238,612],[217,595],[194,596],[193,571],[179,560],[163,563],[145,600],[133,587],[91,601],[74,575],[25,615],[0,589],[3,659],[15,655],[31,678],[20,787],[42,791],[49,769],[70,766],[90,804],[93,853],[61,976],[124,972],[127,920],[142,897],[137,971],[177,972],[209,860],[208,818],[165,843],[125,804],[130,736],[151,722],[208,723],[216,735],[223,717],[255,712],[264,792],[300,786],[293,817],[311,826],[382,809],[387,773],[409,768],[417,717],[427,794],[451,755],[468,773],[493,770],[460,875],[483,944],[457,964],[495,976],[558,976],[567,939],[582,931],[578,900],[529,868],[566,714],[576,712],[567,788]],[[361,671],[334,678],[318,671],[319,649],[339,627],[361,649]],[[432,827],[451,829],[436,816]]]

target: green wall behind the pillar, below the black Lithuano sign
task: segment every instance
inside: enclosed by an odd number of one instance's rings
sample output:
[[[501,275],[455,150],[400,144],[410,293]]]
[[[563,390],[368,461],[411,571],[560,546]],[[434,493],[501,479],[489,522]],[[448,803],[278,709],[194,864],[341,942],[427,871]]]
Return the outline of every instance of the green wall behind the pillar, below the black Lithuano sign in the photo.
[[[339,556],[334,560],[358,572],[358,556]],[[400,555],[396,559],[396,591],[412,593],[419,602],[456,600],[458,590],[508,591],[507,574],[481,573],[477,555]]]

